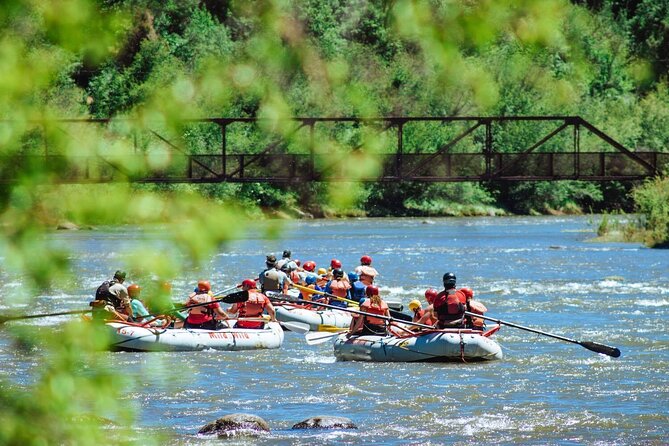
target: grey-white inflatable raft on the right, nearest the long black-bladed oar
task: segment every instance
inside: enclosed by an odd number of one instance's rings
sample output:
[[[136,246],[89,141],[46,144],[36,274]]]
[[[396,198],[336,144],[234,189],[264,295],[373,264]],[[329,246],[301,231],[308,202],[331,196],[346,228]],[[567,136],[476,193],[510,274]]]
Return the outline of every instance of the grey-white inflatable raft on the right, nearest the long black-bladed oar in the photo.
[[[502,359],[502,348],[490,335],[474,330],[430,330],[395,336],[337,336],[334,354],[339,361],[473,362]]]

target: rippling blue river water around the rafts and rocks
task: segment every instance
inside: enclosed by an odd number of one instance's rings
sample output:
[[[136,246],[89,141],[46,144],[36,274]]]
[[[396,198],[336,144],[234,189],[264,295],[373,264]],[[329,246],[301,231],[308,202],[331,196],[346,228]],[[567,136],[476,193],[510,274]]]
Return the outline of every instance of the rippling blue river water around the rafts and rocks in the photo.
[[[489,316],[615,346],[618,359],[511,327],[495,335],[504,359],[489,363],[336,362],[331,344],[308,346],[295,333],[279,350],[105,355],[141,383],[128,394],[139,435],[168,433],[171,444],[218,443],[196,432],[238,412],[272,428],[240,444],[667,444],[669,253],[590,243],[594,227],[584,217],[287,222],[278,239],[250,230],[197,274],[222,289],[254,277],[266,254],[286,248],[319,266],[338,258],[346,270],[369,254],[387,299],[406,304],[451,271]],[[147,233],[164,245],[159,230],[52,234],[72,250],[82,291],[41,296],[34,310],[85,308],[95,286],[123,266],[124,249]],[[175,280],[175,297],[198,278]],[[7,291],[20,281],[3,274],[1,285]],[[0,360],[30,368],[5,339]],[[316,415],[348,417],[359,429],[291,430]]]

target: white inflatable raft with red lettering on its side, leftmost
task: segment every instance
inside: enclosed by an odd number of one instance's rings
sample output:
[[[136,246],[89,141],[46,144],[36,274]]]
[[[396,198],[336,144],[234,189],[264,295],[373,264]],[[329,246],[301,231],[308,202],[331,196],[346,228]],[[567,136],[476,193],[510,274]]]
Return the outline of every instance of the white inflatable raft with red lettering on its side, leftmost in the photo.
[[[230,320],[230,327],[235,321]],[[199,351],[199,350],[257,350],[279,348],[283,343],[283,328],[268,322],[263,329],[223,328],[199,330],[186,328],[140,327],[124,322],[108,322],[112,351]]]

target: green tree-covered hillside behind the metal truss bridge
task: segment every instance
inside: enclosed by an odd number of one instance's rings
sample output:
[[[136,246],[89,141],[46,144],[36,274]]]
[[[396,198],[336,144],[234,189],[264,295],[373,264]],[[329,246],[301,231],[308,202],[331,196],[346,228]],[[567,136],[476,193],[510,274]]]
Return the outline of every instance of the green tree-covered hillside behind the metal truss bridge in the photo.
[[[52,56],[61,59],[58,77],[40,98],[50,114],[168,124],[193,117],[276,120],[269,128],[231,129],[229,146],[243,152],[261,150],[277,133],[287,136],[290,129],[278,120],[289,116],[579,115],[626,147],[667,150],[669,12],[658,2],[455,7],[441,1],[108,0],[97,7],[116,18],[115,43],[106,51],[84,47]],[[407,127],[405,150],[436,150],[462,130],[443,127]],[[508,133],[513,141],[495,141],[495,147],[529,147],[537,131],[536,125],[519,127]],[[217,126],[177,126],[174,133],[192,153],[218,153]],[[319,150],[350,164],[344,168],[355,170],[353,177],[373,174],[377,164],[349,163],[352,150],[371,157],[392,152],[394,144],[357,126],[321,128],[316,136]],[[453,150],[481,150],[472,144]],[[152,150],[149,140],[140,146]],[[196,189],[249,210],[381,216],[629,212],[633,186],[563,181]]]

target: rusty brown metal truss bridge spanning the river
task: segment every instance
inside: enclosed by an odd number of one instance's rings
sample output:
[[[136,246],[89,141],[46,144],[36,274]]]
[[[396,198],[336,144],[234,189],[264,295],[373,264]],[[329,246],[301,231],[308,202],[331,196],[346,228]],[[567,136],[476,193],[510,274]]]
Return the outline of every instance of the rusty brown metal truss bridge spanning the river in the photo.
[[[130,119],[32,124],[22,150],[0,145],[0,183],[26,169],[52,183],[303,183],[620,181],[669,168],[669,152],[627,148],[578,116],[206,118],[179,134]]]

